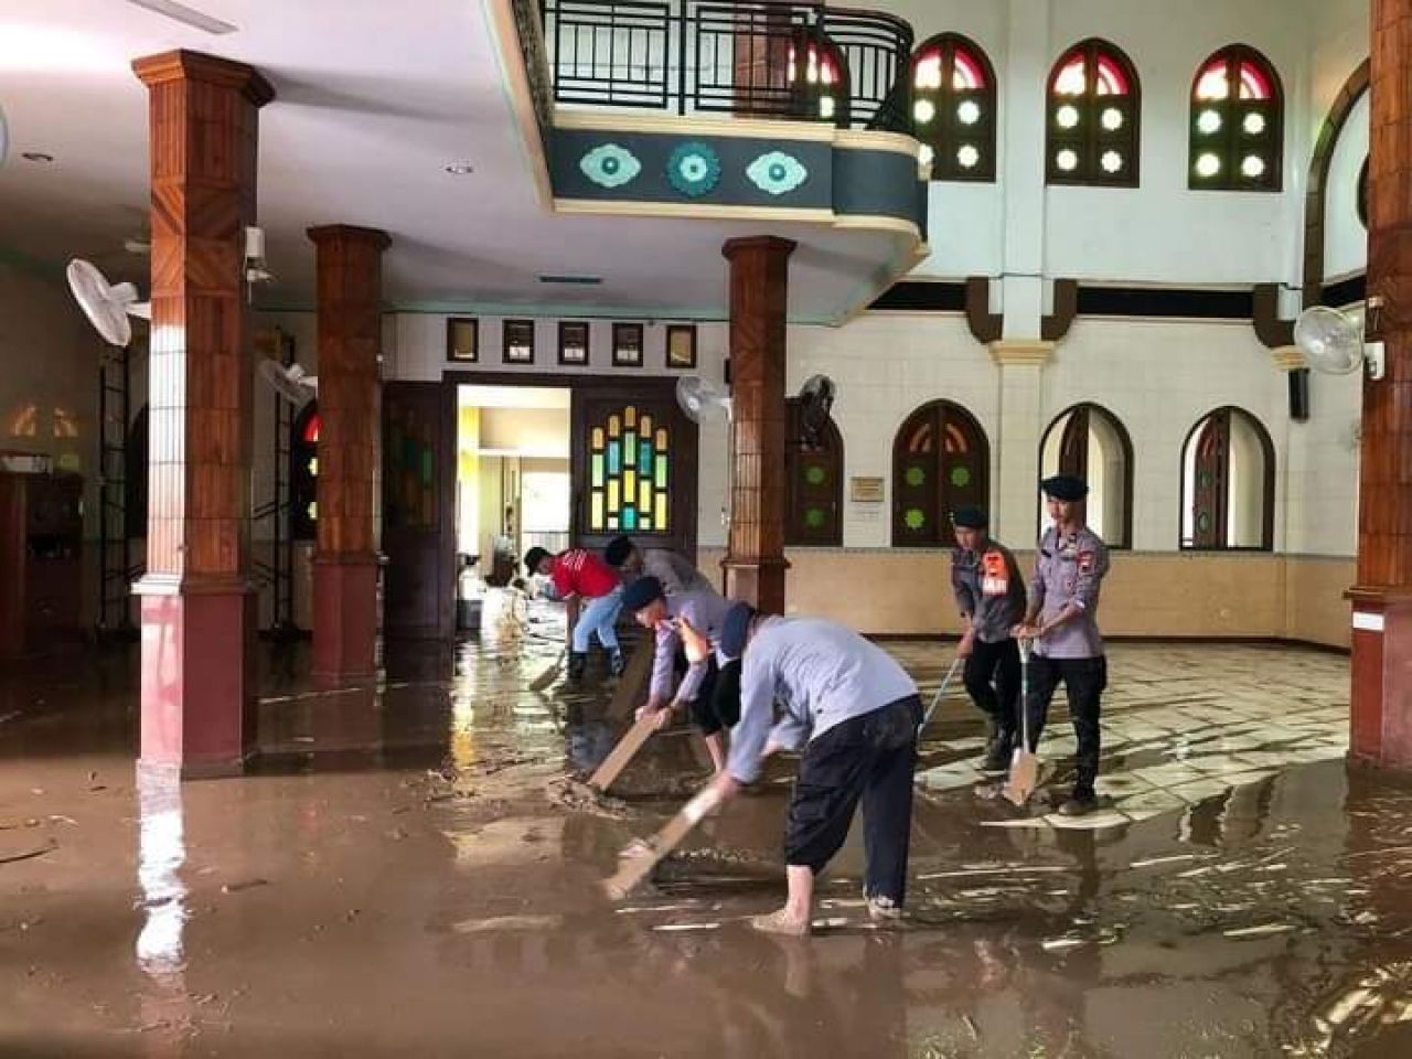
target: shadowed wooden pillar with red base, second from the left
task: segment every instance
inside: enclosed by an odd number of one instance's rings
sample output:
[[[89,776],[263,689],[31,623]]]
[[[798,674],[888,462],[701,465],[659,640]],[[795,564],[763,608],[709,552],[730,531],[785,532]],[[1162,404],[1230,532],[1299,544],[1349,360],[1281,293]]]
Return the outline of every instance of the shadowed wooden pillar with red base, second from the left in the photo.
[[[385,232],[311,227],[318,247],[319,476],[313,674],[371,676],[377,640],[373,490]]]

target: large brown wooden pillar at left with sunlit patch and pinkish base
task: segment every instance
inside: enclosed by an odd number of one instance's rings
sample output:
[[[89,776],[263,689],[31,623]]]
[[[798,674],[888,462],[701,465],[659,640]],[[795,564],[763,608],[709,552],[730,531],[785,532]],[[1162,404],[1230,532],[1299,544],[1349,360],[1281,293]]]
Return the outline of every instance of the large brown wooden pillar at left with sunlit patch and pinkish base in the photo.
[[[274,90],[251,66],[189,51],[133,71],[148,89],[152,185],[141,762],[220,775],[240,771],[254,736],[241,263]]]

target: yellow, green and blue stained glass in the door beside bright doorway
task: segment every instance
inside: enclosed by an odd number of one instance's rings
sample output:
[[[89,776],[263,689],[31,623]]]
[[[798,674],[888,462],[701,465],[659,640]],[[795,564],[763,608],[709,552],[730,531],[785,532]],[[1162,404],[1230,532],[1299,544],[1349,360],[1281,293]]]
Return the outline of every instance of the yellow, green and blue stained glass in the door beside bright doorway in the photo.
[[[671,432],[624,405],[589,429],[589,532],[671,530]]]

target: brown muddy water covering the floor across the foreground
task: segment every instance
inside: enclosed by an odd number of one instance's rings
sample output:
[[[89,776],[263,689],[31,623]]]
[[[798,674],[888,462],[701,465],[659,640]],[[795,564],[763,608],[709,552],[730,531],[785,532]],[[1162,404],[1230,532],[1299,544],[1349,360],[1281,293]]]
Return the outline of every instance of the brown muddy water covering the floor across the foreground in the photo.
[[[7,681],[0,1056],[1412,1055],[1408,788],[1291,765],[1099,830],[925,792],[907,929],[870,929],[850,840],[816,936],[774,940],[743,921],[782,892],[788,764],[610,904],[703,760],[666,734],[585,798],[621,720],[521,690],[549,657],[366,689],[270,659],[256,774],[185,786],[134,772],[131,658]],[[928,764],[973,757],[942,717]]]

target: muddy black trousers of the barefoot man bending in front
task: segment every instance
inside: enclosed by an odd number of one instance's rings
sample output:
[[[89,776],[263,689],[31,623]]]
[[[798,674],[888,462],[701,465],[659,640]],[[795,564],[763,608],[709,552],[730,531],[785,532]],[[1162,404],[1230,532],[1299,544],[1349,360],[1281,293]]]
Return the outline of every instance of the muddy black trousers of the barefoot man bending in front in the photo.
[[[902,904],[921,723],[922,700],[911,695],[836,724],[809,743],[785,820],[785,864],[822,871],[849,837],[861,799],[867,851],[863,892]]]

